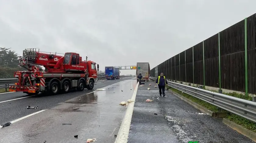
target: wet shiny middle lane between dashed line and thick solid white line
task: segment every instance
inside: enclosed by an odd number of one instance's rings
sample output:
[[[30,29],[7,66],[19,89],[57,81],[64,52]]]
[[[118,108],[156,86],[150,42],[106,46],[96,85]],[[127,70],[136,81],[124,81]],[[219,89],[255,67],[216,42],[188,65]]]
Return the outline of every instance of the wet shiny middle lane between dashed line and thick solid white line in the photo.
[[[2,128],[0,142],[114,142],[127,108],[119,103],[131,98],[136,84],[130,79],[84,92]]]

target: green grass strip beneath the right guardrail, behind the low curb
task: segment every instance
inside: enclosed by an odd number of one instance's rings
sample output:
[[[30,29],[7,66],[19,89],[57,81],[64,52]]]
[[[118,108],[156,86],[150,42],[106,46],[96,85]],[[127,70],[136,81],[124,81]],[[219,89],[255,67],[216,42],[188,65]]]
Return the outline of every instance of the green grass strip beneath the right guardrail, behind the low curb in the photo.
[[[195,103],[197,103],[197,104],[199,104],[199,105],[201,105],[201,106],[203,106],[203,107],[205,107],[205,108],[207,108],[207,109],[209,109],[209,110],[211,110],[213,112],[227,112],[228,115],[225,118],[228,118],[230,121],[233,121],[234,123],[236,123],[236,124],[246,128],[246,129],[256,133],[256,123],[254,123],[252,121],[249,121],[249,120],[247,120],[245,118],[242,118],[240,116],[237,116],[235,114],[232,114],[232,113],[230,113],[228,111],[225,111],[225,110],[223,110],[221,108],[218,108],[218,107],[216,107],[214,105],[211,105],[211,104],[209,104],[209,103],[207,103],[205,101],[202,101],[201,99],[195,98],[195,97],[193,97],[191,95],[188,95],[187,93],[184,93],[184,92],[182,92],[180,90],[177,90],[175,88],[171,88],[171,87],[168,87],[168,88],[171,89],[173,92],[176,92],[176,93],[178,93],[178,94],[180,94],[180,95],[190,99],[191,101],[193,101],[193,102],[195,102]],[[243,95],[243,94],[238,94],[236,92],[233,92],[233,93],[223,93],[223,94],[252,101],[251,96],[248,96],[248,95],[246,96],[246,95]]]

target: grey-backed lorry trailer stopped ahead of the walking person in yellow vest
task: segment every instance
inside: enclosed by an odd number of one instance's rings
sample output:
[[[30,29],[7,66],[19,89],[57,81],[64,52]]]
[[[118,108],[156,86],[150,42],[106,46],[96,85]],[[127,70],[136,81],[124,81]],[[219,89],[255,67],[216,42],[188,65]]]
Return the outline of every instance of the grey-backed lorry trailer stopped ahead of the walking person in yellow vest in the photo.
[[[148,81],[149,73],[150,73],[150,66],[148,62],[137,62],[137,68],[136,68],[136,75],[141,73],[142,79],[141,81]],[[137,79],[139,81],[139,79]]]

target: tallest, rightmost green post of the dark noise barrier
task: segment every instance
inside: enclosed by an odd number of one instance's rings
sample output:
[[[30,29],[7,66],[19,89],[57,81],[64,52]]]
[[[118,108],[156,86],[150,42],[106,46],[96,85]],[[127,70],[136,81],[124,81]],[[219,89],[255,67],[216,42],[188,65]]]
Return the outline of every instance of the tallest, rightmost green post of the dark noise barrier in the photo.
[[[247,67],[247,18],[244,19],[244,65],[245,65],[245,95],[248,95],[248,67]]]

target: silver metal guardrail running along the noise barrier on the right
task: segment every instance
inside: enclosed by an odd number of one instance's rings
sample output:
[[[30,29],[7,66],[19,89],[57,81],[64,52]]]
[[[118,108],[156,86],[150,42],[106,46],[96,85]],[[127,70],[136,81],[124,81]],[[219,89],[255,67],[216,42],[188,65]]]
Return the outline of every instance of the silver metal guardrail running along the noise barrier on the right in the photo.
[[[150,77],[156,80],[155,77]],[[256,102],[168,81],[168,85],[256,123]]]

